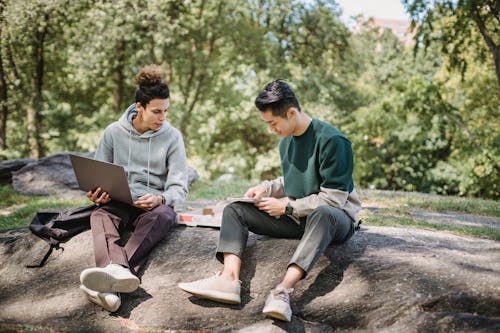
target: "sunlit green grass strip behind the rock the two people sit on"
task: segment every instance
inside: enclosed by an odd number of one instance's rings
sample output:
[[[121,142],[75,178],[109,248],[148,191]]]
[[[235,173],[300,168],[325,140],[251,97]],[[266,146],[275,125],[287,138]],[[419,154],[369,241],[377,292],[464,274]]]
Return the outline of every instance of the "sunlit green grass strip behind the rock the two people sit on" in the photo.
[[[191,186],[187,200],[222,201],[227,197],[242,196],[253,185],[255,184],[245,180],[231,182],[201,180]],[[365,225],[446,230],[460,235],[500,240],[500,231],[494,228],[435,224],[410,216],[411,210],[423,209],[499,217],[500,204],[497,201],[379,190],[360,190],[359,192],[363,203],[367,206],[373,204],[385,207],[375,212],[364,209],[361,216]],[[0,230],[28,226],[35,213],[40,210],[88,204],[86,199],[63,200],[55,197],[20,195],[11,186],[0,186],[0,198]]]

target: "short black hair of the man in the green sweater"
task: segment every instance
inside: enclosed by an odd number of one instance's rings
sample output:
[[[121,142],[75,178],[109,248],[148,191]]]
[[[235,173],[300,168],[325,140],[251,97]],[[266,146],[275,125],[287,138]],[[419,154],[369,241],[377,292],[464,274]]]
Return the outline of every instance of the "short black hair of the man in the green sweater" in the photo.
[[[271,109],[273,116],[287,118],[287,111],[294,107],[300,112],[300,104],[292,88],[282,79],[266,85],[255,99],[255,106],[260,112]]]

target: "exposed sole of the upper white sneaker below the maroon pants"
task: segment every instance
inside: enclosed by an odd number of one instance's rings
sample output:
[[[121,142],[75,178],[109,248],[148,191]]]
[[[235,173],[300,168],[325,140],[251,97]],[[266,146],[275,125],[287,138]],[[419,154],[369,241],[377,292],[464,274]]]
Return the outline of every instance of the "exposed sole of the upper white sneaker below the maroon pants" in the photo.
[[[85,287],[98,292],[131,293],[139,288],[138,278],[117,279],[103,271],[84,272],[80,280]]]

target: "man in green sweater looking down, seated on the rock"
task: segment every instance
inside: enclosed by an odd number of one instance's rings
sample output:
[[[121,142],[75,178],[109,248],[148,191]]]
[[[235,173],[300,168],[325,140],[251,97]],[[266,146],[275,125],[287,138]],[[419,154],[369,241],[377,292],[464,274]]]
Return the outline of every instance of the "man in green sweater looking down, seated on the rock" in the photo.
[[[216,257],[222,272],[180,283],[197,297],[239,304],[241,255],[248,231],[277,238],[299,238],[283,280],[266,300],[263,313],[290,321],[289,294],[330,244],[347,241],[358,225],[361,202],[354,190],[351,143],[335,127],[303,113],[287,83],[269,83],[255,99],[262,120],[282,139],[283,177],[250,188],[224,209]]]

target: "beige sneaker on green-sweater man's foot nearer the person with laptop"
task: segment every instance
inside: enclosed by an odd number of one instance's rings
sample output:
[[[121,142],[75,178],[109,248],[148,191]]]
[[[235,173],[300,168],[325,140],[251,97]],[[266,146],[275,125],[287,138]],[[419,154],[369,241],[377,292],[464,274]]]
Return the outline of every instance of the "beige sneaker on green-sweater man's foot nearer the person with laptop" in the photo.
[[[179,288],[199,298],[216,302],[240,304],[241,281],[226,280],[221,273],[215,273],[207,279],[189,283],[179,283]]]

